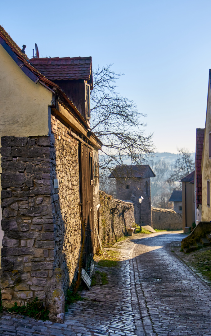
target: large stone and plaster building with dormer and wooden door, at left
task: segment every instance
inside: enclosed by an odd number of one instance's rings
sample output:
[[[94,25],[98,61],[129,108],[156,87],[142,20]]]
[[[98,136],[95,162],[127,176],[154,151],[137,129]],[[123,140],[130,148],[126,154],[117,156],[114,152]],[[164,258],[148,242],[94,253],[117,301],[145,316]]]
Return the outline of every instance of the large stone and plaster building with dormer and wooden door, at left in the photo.
[[[37,296],[61,322],[64,294],[77,277],[80,212],[87,271],[97,248],[102,144],[89,125],[91,58],[45,58],[38,71],[42,59],[30,61],[2,27],[0,58],[3,306]]]

